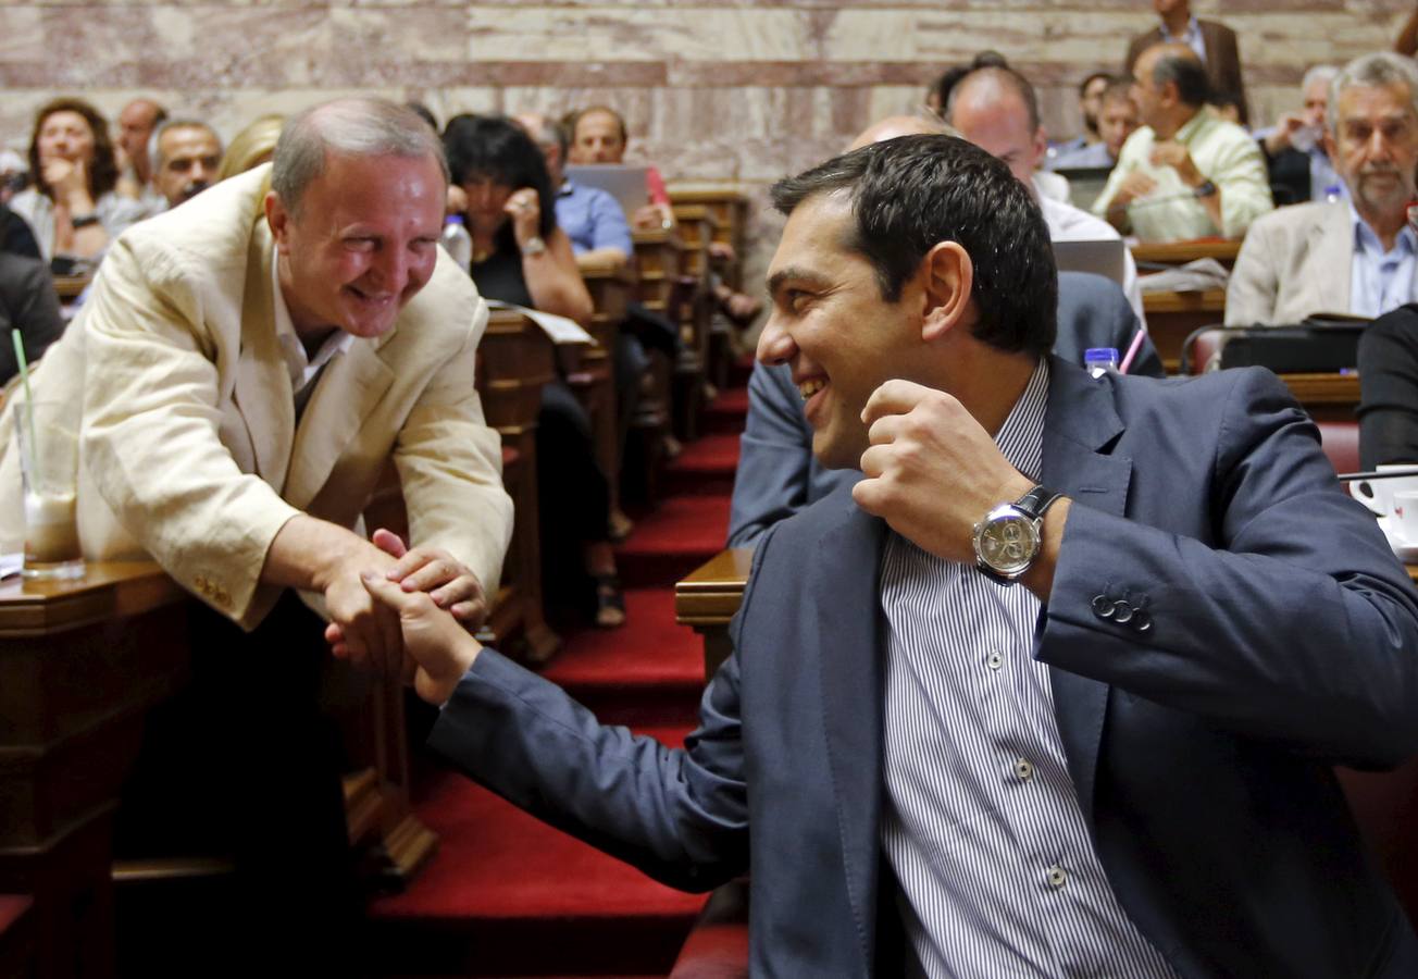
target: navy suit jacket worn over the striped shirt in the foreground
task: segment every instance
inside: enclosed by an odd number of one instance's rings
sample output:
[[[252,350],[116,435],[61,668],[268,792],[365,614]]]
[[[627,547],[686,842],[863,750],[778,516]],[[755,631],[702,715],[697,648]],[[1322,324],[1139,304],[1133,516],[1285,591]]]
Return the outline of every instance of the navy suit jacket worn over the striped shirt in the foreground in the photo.
[[[1418,751],[1418,594],[1283,385],[1055,360],[1042,481],[1073,505],[1034,654],[1122,907],[1183,976],[1418,975],[1332,772]],[[888,973],[885,536],[842,492],[764,535],[686,749],[492,653],[431,743],[669,884],[752,870],[754,975]]]

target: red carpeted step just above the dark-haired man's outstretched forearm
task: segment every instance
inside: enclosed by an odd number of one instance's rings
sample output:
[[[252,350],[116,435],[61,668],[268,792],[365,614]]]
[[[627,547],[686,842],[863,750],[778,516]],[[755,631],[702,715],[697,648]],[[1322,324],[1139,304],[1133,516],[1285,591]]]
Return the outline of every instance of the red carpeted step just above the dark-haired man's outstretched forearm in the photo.
[[[604,724],[695,722],[705,685],[703,641],[675,623],[672,590],[627,590],[623,629],[588,629],[563,640],[542,675]]]

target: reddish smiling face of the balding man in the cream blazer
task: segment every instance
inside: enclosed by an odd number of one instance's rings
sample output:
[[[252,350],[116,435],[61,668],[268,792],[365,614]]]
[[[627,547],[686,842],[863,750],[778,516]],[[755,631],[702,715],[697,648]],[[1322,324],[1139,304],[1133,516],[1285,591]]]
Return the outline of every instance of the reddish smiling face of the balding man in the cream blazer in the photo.
[[[445,184],[430,157],[329,155],[292,214],[275,193],[267,219],[296,332],[380,336],[430,280]]]

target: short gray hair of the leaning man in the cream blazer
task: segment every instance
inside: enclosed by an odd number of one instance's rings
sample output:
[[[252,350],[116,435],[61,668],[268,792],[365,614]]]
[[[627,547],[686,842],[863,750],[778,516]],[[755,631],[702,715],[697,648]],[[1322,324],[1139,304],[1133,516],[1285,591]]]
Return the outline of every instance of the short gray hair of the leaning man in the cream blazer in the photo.
[[[438,133],[413,109],[381,98],[353,96],[316,105],[292,116],[275,143],[271,189],[298,214],[301,199],[336,156],[432,157],[448,182]]]

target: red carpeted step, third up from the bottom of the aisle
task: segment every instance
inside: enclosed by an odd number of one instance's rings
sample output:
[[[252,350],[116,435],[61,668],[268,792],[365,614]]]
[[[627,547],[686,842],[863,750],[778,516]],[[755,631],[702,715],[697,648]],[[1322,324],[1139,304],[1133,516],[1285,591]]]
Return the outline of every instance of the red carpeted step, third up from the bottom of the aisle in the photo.
[[[727,497],[671,497],[635,522],[615,549],[627,587],[674,587],[675,582],[723,551],[729,536]]]

